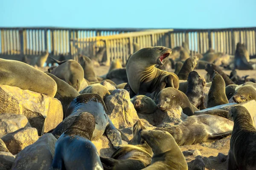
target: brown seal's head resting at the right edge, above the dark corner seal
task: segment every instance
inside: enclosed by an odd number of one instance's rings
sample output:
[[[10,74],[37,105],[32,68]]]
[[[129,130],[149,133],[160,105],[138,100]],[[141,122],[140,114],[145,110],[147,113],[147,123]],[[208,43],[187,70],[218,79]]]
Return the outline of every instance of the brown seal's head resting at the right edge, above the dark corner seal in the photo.
[[[250,85],[241,86],[236,90],[233,96],[233,101],[236,103],[241,103],[253,99],[256,100],[256,90]]]

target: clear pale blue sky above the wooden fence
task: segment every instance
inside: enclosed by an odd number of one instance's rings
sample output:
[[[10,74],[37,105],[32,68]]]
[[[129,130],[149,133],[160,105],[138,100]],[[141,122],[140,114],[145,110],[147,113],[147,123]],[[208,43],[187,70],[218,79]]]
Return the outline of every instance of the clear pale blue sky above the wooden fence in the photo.
[[[0,27],[256,26],[256,0],[0,0]]]

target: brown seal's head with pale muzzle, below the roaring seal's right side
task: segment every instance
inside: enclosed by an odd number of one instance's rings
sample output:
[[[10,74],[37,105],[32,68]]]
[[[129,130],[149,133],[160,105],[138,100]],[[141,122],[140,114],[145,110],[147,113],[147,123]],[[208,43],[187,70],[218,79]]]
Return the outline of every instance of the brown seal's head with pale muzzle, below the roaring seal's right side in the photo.
[[[180,106],[180,91],[176,88],[165,88],[157,95],[157,107],[161,111],[169,111]]]

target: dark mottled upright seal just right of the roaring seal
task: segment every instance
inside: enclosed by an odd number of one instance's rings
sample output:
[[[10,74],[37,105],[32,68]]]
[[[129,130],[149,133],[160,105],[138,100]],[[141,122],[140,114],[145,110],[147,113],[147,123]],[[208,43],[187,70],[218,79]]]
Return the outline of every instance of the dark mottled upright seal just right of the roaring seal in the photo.
[[[206,108],[204,106],[204,87],[202,85],[201,77],[196,71],[191,71],[189,73],[186,96],[190,103],[199,110]]]

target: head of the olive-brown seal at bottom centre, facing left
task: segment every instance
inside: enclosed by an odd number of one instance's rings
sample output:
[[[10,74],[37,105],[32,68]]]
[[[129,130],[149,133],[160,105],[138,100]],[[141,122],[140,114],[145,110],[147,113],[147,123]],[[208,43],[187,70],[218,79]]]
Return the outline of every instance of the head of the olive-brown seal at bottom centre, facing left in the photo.
[[[155,155],[173,149],[172,146],[175,146],[173,143],[176,143],[172,135],[166,131],[141,130],[140,135],[152,148]]]

